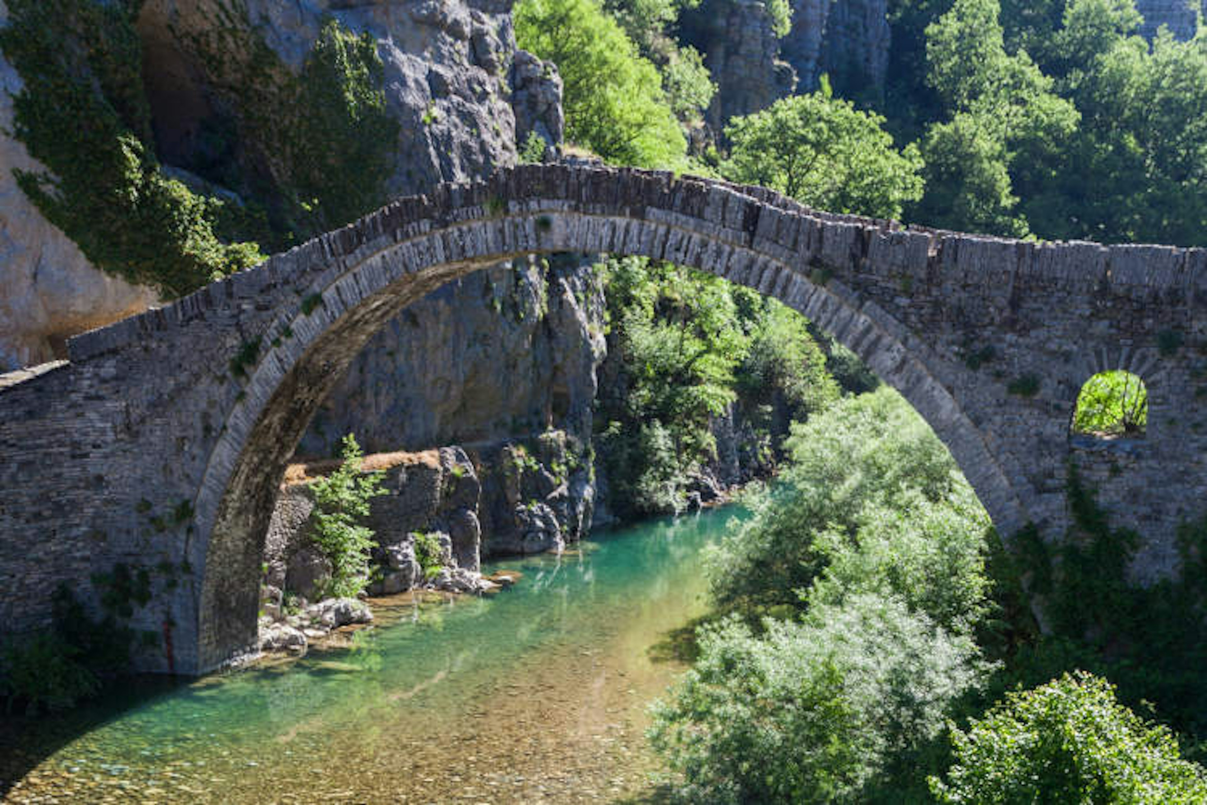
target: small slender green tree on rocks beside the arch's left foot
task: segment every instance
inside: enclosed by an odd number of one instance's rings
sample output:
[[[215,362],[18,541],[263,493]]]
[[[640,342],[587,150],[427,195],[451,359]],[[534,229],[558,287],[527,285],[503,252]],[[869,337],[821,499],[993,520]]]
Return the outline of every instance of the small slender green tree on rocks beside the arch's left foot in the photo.
[[[356,437],[344,437],[339,468],[310,485],[314,495],[314,542],[331,561],[327,593],[352,597],[368,584],[373,530],[363,525],[369,501],[385,494],[385,473],[362,472],[365,457]]]

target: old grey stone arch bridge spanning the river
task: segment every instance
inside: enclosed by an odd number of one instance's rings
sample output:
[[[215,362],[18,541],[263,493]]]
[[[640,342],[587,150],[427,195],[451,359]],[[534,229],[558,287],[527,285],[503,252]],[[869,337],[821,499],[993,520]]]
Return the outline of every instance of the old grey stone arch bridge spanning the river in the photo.
[[[774,296],[898,389],[998,531],[1067,525],[1071,459],[1176,572],[1207,507],[1207,253],[903,229],[758,187],[533,165],[444,185],[0,378],[0,629],[49,619],[62,582],[123,562],[162,635],[144,667],[255,651],[263,535],[285,463],[369,337],[439,285],[533,252],[645,255]],[[1071,438],[1081,384],[1139,374],[1145,438]]]

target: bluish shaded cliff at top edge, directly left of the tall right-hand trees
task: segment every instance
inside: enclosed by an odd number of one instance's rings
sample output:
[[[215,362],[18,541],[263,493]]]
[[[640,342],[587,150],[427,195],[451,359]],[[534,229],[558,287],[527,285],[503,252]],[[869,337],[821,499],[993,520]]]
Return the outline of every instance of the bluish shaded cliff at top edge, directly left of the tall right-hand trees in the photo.
[[[858,94],[884,87],[890,43],[886,0],[795,0],[781,48],[799,92],[827,74],[835,88]]]

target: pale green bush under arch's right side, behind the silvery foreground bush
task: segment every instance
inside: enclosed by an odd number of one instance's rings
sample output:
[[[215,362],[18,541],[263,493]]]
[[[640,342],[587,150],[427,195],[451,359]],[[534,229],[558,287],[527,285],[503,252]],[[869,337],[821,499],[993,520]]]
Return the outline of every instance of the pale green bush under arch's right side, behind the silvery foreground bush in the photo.
[[[709,558],[722,606],[794,605],[827,572],[859,589],[855,576],[873,571],[869,589],[931,601],[947,629],[975,616],[987,518],[904,399],[888,389],[844,398],[794,425],[786,448],[775,494],[753,500],[754,517]]]

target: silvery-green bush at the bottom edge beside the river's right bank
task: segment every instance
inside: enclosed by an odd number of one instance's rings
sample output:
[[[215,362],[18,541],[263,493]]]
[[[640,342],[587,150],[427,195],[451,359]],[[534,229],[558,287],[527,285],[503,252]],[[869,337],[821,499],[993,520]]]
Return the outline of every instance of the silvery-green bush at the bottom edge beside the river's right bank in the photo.
[[[893,759],[944,729],[980,669],[952,636],[875,594],[818,605],[803,623],[705,626],[700,659],[653,708],[655,748],[700,803],[852,801],[898,788]]]

